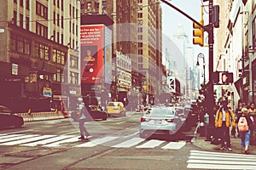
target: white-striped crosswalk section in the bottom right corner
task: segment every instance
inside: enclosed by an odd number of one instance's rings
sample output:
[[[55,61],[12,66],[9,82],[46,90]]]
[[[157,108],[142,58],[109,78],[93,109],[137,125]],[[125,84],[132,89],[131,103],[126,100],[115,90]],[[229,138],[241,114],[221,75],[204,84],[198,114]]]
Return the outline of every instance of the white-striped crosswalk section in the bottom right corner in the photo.
[[[191,150],[188,169],[256,169],[256,156]]]

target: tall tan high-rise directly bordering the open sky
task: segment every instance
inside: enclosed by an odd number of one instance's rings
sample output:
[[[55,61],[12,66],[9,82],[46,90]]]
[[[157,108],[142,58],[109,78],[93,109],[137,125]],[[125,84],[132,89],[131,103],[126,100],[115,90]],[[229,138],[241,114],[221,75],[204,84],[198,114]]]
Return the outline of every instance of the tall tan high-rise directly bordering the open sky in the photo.
[[[161,8],[159,1],[138,1],[138,70],[142,77],[143,104],[154,104],[160,94]],[[160,80],[160,81],[159,81]]]

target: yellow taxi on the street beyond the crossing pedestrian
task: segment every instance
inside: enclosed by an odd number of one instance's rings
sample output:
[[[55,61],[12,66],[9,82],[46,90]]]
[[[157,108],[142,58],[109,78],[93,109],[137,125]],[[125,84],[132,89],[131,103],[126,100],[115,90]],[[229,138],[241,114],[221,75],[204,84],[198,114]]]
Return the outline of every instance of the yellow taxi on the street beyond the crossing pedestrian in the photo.
[[[125,105],[122,102],[108,102],[107,112],[109,116],[125,116]]]

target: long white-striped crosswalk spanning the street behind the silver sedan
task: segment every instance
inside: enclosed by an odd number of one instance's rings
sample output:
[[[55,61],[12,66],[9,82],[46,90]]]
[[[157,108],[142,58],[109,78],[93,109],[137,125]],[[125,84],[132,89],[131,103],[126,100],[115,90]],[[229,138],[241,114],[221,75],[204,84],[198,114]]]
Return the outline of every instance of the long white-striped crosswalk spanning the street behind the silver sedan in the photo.
[[[186,142],[170,142],[158,139],[145,140],[137,136],[102,136],[98,138],[90,137],[89,141],[81,142],[78,136],[71,134],[51,135],[51,134],[20,134],[5,133],[0,134],[1,145],[20,146],[41,146],[41,147],[69,147],[86,148],[97,145],[106,145],[113,148],[160,148],[163,150],[179,150]]]

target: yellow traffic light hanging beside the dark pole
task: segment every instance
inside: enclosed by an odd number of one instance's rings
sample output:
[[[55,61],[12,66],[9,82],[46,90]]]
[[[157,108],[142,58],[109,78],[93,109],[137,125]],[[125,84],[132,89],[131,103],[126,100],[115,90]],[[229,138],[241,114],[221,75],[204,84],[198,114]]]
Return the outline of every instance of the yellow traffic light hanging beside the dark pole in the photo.
[[[200,21],[200,24],[204,26],[204,20]],[[204,45],[204,29],[198,26],[195,22],[193,23],[193,44]]]

